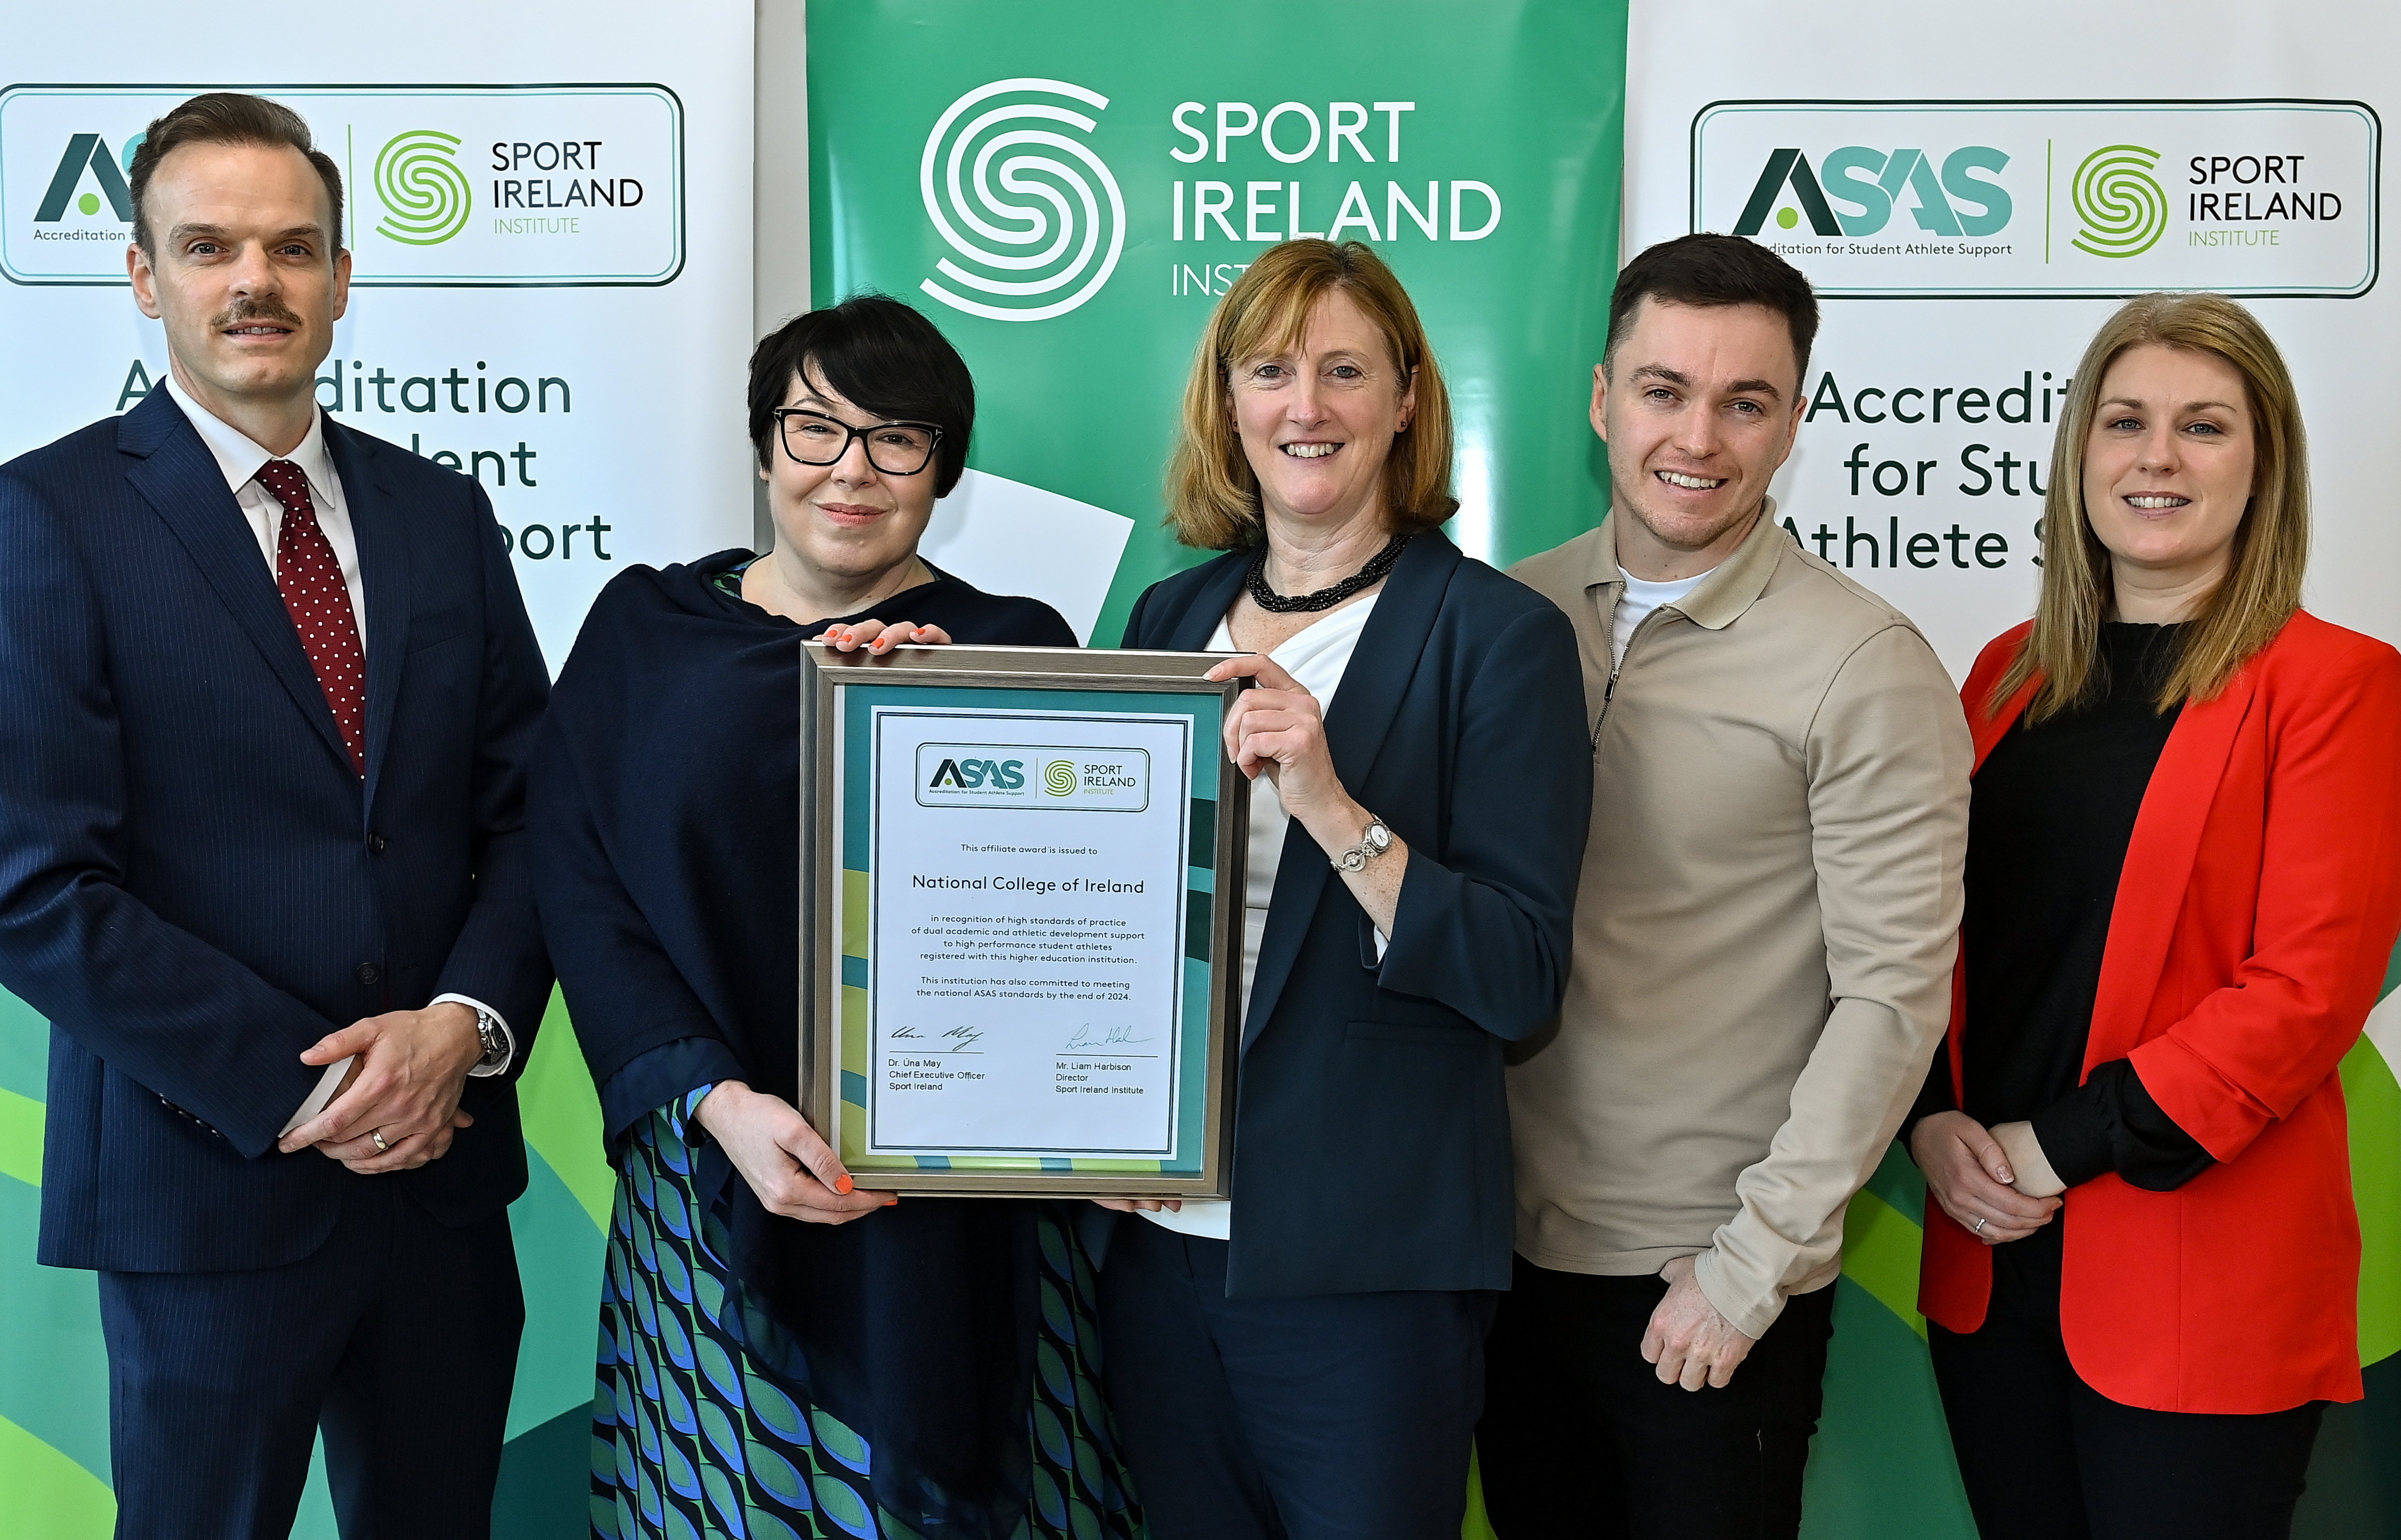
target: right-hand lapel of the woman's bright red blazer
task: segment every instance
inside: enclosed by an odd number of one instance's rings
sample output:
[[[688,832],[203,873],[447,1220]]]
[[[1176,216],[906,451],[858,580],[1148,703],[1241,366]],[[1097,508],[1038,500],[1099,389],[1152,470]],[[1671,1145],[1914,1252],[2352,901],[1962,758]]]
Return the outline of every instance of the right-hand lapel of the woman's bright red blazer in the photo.
[[[2257,691],[2255,672],[2243,669],[2216,700],[2187,700],[2158,753],[2108,916],[2101,988],[2094,993],[2094,1024],[2084,1046],[2086,1075],[2094,1065],[2132,1053],[2142,1036],[2158,974],[2168,964],[2175,916],[2185,907],[2192,861],[2202,849],[2209,804],[2216,801],[2226,758]]]

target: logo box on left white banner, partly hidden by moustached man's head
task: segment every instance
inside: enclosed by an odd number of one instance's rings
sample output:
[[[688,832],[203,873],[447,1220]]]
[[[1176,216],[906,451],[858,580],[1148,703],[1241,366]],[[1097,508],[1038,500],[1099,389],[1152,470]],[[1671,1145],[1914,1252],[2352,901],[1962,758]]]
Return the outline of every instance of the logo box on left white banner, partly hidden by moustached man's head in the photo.
[[[341,168],[360,288],[619,288],[684,266],[684,108],[658,84],[10,86],[0,91],[0,271],[122,285],[125,166],[202,91],[300,113]]]

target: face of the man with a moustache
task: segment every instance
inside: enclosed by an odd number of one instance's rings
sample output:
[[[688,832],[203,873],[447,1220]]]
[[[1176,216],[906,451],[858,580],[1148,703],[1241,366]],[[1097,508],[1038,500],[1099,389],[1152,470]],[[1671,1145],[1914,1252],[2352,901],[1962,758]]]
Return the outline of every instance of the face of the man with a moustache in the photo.
[[[185,389],[221,415],[305,403],[351,297],[351,254],[307,156],[182,144],[142,201],[158,249],[127,254],[134,302],[166,321]]]

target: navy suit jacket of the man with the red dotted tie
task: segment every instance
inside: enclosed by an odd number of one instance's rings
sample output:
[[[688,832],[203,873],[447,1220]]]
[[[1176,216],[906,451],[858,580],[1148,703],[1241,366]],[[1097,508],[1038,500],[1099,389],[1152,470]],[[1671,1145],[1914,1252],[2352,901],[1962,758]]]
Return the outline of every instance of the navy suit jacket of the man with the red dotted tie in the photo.
[[[550,691],[483,489],[327,420],[367,609],[360,784],[226,477],[166,391],[0,465],[0,986],[50,1019],[41,1262],[310,1255],[348,1183],[526,1185],[509,1077],[444,1159],[276,1135],[327,1031],[456,991],[533,1048],[523,780]],[[180,1108],[180,1111],[178,1111]]]

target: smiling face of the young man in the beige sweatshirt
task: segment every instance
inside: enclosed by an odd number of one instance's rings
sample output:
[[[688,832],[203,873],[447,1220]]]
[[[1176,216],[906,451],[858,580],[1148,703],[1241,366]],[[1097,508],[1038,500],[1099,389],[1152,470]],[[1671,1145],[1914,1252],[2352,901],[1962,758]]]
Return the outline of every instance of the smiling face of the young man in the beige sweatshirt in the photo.
[[[1618,561],[1647,580],[1705,573],[1750,533],[1801,432],[1801,360],[1765,305],[1647,297],[1592,372]]]

